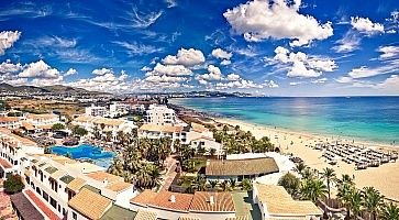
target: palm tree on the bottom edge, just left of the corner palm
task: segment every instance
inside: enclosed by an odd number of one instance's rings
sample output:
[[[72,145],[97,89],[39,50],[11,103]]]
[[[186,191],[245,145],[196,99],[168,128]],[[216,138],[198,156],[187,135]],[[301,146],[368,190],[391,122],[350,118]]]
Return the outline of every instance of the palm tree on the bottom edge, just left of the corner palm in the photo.
[[[373,215],[373,220],[377,219],[377,211],[384,206],[384,196],[374,187],[363,188],[363,206],[367,212]]]

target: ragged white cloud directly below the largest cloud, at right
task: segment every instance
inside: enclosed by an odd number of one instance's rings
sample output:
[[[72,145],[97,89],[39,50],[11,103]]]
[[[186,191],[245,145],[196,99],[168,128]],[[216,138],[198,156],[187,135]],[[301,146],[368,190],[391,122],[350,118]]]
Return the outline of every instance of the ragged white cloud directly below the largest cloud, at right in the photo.
[[[277,62],[277,64],[281,64],[284,68],[288,67],[288,77],[319,77],[323,72],[334,72],[337,68],[335,62],[332,59],[317,56],[309,57],[302,52],[289,52],[281,46],[276,47],[275,54],[270,64],[276,64]]]

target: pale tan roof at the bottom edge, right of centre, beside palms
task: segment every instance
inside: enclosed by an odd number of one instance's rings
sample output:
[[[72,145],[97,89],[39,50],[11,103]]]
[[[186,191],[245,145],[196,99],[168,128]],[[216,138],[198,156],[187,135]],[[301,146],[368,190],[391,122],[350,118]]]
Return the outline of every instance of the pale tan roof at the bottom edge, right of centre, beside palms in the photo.
[[[282,186],[255,184],[258,200],[265,204],[270,216],[321,216],[322,211],[311,201],[297,201]]]

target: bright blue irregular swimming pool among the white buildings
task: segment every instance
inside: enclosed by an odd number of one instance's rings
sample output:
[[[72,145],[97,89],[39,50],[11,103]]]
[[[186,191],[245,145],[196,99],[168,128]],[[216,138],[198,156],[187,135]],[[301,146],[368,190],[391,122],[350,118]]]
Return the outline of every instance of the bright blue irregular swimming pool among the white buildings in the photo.
[[[73,158],[89,158],[92,160],[96,165],[106,168],[111,165],[112,160],[115,156],[114,152],[102,151],[100,147],[91,144],[80,144],[76,147],[53,146],[52,152],[64,156],[67,153],[70,153]]]

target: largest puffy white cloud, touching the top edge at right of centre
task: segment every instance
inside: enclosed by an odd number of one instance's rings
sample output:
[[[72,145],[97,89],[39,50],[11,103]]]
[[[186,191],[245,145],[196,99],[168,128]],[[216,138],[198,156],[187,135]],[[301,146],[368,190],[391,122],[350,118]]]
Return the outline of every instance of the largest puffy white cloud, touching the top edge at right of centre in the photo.
[[[333,35],[331,22],[320,24],[313,16],[299,13],[301,0],[287,4],[284,0],[248,1],[223,13],[237,34],[246,41],[290,38],[291,46],[301,46],[313,40]]]

